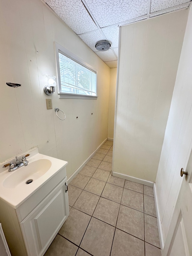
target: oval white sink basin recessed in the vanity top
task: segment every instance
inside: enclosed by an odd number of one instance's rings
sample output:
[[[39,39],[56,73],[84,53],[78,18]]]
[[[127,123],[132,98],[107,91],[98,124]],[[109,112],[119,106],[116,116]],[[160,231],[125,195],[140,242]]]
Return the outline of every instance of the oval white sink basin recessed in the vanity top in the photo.
[[[5,188],[15,188],[22,186],[23,183],[26,184],[26,181],[29,179],[35,181],[44,175],[50,167],[51,161],[48,159],[33,161],[27,166],[22,166],[17,171],[13,171],[13,173],[4,180],[3,186]],[[30,184],[26,184],[26,186]]]

